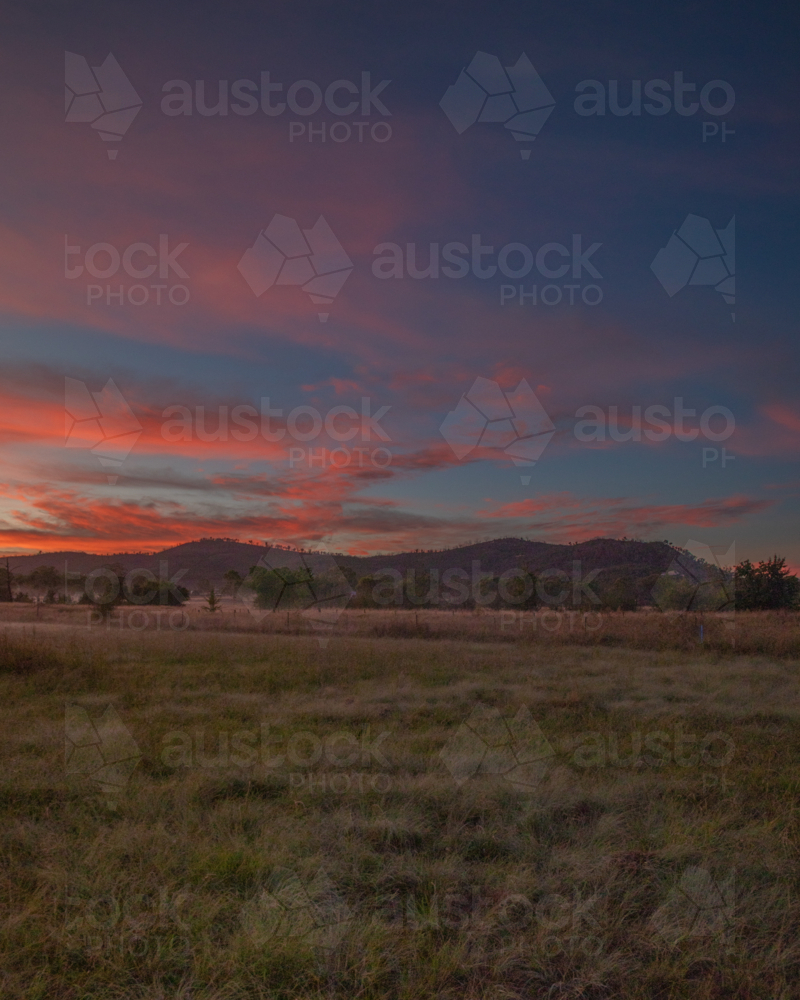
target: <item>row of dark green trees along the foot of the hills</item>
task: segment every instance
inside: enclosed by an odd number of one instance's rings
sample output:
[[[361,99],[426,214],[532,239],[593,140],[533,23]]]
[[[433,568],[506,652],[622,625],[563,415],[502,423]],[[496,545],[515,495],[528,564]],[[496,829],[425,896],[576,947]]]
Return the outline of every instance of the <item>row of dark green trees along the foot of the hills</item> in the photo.
[[[477,577],[466,570],[418,571],[405,574],[386,569],[359,577],[351,567],[336,567],[325,574],[310,569],[277,567],[251,568],[246,578],[236,570],[224,575],[221,594],[237,596],[241,588],[257,607],[270,609],[305,607],[313,601],[346,595],[351,608],[537,608],[569,607],[580,610],[635,611],[654,606],[662,611],[775,611],[800,609],[800,579],[786,565],[786,559],[752,563],[749,559],[729,569],[720,569],[697,561],[689,572],[653,573],[634,578],[629,574],[604,571],[590,586],[570,586],[567,574],[535,573],[523,567],[506,573],[481,573]],[[202,591],[211,590],[212,607],[219,604],[214,588],[206,582]],[[110,564],[90,574],[64,574],[53,566],[38,566],[28,574],[12,573],[0,567],[0,601],[92,604],[113,607],[118,604],[159,604],[179,606],[189,591],[166,580],[144,576],[130,579],[123,566]]]

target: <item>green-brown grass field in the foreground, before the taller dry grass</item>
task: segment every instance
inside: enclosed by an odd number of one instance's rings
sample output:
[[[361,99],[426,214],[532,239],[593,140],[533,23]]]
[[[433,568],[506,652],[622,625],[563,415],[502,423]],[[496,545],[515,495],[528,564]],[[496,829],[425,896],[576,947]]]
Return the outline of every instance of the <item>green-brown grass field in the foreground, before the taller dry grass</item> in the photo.
[[[798,660],[0,627],[0,995],[800,996]]]

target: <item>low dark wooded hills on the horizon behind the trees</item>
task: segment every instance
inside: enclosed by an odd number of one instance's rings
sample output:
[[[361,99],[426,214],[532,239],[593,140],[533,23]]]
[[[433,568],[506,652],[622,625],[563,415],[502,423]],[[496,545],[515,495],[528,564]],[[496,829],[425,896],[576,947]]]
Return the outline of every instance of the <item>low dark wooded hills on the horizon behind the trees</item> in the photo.
[[[38,566],[53,566],[59,573],[66,569],[71,573],[85,575],[103,566],[118,565],[125,570],[147,569],[159,576],[162,564],[165,563],[166,573],[170,578],[184,571],[178,582],[190,590],[198,590],[204,589],[208,584],[220,586],[225,572],[231,569],[246,576],[250,567],[258,562],[265,551],[264,545],[226,538],[203,538],[154,554],[119,552],[113,555],[91,555],[87,552],[64,551],[36,556],[12,556],[9,558],[9,567],[15,575],[28,574]],[[475,562],[480,563],[480,572],[493,575],[519,567],[534,575],[545,570],[561,570],[571,576],[573,564],[580,562],[583,577],[599,570],[596,577],[599,582],[629,580],[640,595],[652,586],[651,581],[667,569],[674,557],[675,550],[666,542],[613,538],[594,538],[575,545],[552,545],[524,538],[496,538],[443,551],[400,552],[381,556],[335,555],[337,563],[352,570],[358,578],[374,575],[387,568],[399,570],[403,575],[409,569],[417,573],[438,570],[441,574],[444,570],[459,568],[471,575]],[[279,563],[280,560],[275,562]]]

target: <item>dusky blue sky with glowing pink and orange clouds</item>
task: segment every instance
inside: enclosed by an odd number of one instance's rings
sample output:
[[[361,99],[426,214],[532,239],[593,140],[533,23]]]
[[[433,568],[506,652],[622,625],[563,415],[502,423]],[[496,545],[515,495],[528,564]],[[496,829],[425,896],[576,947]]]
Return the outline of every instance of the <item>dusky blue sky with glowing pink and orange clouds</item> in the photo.
[[[800,568],[792,5],[2,22],[2,554]]]

